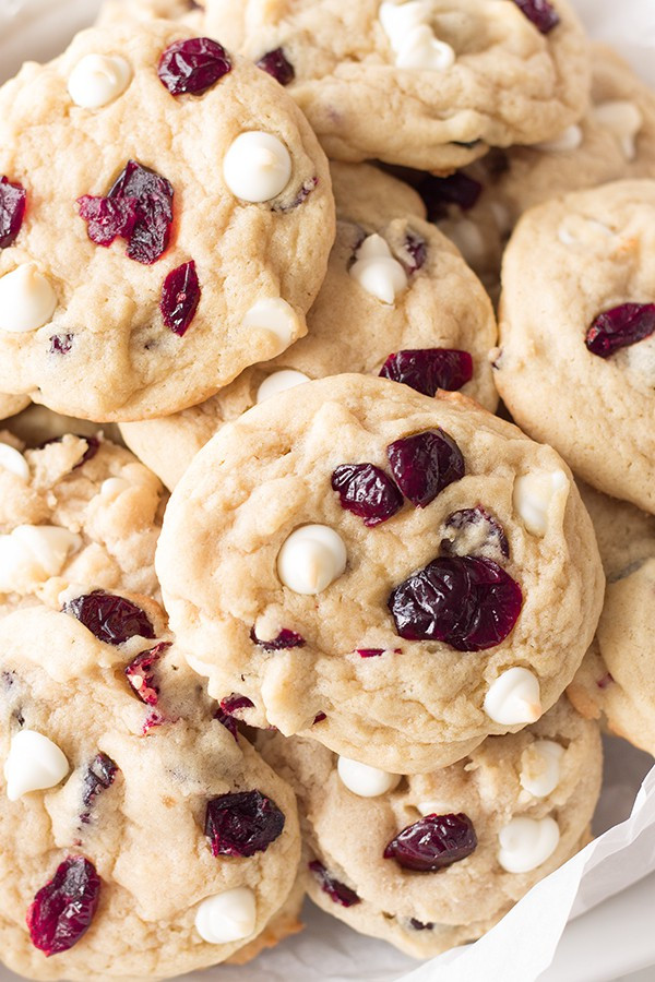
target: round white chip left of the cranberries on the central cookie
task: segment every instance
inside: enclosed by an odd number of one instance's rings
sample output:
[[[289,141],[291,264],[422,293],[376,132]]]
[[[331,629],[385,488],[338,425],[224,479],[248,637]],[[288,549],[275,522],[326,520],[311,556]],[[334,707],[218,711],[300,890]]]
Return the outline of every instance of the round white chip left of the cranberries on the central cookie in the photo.
[[[327,525],[303,525],[277,555],[277,575],[295,594],[315,595],[340,577],[347,562],[342,537]]]

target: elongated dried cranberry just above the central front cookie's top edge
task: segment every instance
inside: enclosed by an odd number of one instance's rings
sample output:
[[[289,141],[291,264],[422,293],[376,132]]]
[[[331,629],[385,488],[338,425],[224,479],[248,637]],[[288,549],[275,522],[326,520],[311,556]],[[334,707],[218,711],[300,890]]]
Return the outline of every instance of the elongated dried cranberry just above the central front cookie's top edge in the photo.
[[[457,392],[473,379],[473,358],[453,348],[407,348],[390,355],[380,375],[424,395],[433,396],[438,388]]]

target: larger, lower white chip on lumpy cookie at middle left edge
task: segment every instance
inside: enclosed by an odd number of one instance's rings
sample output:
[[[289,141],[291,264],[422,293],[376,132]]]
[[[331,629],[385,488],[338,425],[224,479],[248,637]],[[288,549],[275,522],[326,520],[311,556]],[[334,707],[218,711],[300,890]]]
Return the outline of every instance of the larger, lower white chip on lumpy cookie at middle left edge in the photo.
[[[0,536],[0,591],[29,591],[58,576],[82,539],[55,525],[19,525]]]

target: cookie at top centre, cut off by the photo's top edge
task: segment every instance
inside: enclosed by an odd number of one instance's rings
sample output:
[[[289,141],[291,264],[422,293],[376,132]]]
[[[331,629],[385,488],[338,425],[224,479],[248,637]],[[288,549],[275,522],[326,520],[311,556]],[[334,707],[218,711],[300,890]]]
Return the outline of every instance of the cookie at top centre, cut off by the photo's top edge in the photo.
[[[588,95],[564,0],[209,0],[205,28],[263,61],[337,160],[449,173],[556,136]]]

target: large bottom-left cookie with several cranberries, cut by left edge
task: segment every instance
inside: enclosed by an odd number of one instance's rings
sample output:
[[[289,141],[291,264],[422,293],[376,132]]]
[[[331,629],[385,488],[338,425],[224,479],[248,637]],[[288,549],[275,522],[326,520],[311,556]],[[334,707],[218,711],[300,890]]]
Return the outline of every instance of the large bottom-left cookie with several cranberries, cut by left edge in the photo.
[[[0,957],[32,979],[215,965],[296,879],[291,790],[222,723],[160,609],[109,599],[0,622]]]

